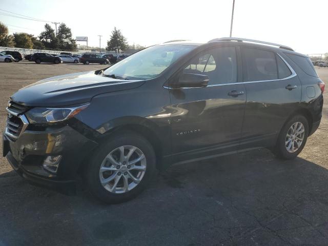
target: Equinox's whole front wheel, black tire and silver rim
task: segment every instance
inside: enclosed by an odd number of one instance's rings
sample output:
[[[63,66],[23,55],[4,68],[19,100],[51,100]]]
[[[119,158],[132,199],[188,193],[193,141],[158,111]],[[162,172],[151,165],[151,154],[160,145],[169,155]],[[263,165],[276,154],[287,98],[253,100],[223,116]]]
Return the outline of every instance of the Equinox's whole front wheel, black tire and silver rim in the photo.
[[[90,159],[85,173],[88,189],[103,202],[124,202],[149,185],[155,167],[156,156],[149,141],[133,132],[116,134]]]

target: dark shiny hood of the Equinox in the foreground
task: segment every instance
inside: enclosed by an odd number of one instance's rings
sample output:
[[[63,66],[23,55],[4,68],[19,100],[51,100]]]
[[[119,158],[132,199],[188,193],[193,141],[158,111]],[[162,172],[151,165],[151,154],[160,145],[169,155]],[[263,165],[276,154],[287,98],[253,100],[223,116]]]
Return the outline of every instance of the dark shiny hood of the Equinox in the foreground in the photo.
[[[137,88],[144,80],[122,80],[96,75],[95,71],[72,73],[40,80],[18,90],[11,99],[26,106],[60,107],[88,103],[95,95]]]

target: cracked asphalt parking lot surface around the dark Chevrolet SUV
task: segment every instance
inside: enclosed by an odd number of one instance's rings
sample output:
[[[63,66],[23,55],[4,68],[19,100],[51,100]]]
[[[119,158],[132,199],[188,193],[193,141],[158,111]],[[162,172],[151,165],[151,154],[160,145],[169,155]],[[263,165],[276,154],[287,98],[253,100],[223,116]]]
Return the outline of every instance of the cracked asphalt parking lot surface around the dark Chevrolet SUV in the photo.
[[[0,64],[0,128],[19,88],[105,67]],[[328,85],[328,68],[317,72]],[[328,245],[327,92],[324,97],[321,125],[296,159],[259,149],[174,166],[136,199],[111,206],[83,189],[66,196],[32,186],[0,157],[0,246]]]

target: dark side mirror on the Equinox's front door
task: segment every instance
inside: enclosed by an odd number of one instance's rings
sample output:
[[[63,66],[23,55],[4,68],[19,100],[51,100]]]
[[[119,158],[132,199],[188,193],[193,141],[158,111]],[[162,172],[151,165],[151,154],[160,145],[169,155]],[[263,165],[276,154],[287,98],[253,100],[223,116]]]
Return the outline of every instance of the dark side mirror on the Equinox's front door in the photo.
[[[176,88],[207,87],[209,80],[210,80],[209,76],[207,75],[197,74],[197,73],[182,73],[175,87]]]

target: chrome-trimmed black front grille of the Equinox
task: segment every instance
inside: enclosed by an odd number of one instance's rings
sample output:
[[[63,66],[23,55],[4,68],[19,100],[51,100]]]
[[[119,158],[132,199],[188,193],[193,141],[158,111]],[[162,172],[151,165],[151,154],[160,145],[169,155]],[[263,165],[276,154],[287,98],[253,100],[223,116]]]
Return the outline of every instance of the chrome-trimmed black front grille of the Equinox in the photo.
[[[5,134],[10,140],[16,141],[19,134],[26,129],[28,120],[23,113],[28,109],[29,108],[26,106],[19,105],[14,101],[9,101],[7,107],[7,111],[9,113],[7,117]]]

